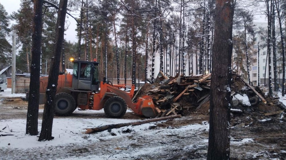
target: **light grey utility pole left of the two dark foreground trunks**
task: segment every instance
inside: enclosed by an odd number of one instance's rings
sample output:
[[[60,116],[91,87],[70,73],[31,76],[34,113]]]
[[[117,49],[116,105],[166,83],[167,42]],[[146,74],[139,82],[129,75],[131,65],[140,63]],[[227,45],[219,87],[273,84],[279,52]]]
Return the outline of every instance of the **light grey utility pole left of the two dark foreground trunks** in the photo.
[[[12,53],[13,53],[13,66],[12,66],[12,89],[11,94],[15,93],[16,87],[16,31],[12,32]]]

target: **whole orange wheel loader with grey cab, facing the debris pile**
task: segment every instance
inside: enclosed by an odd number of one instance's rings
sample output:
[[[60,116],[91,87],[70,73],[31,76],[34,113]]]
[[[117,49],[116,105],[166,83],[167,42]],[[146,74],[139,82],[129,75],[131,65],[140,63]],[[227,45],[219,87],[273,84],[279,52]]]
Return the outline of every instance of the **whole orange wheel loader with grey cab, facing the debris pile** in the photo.
[[[55,115],[69,116],[80,108],[82,110],[101,110],[111,118],[121,118],[127,107],[138,115],[154,117],[157,115],[152,97],[142,96],[137,103],[132,102],[134,85],[112,84],[104,78],[98,79],[98,62],[73,61],[73,73],[59,75],[55,96]],[[44,103],[48,77],[40,78],[40,104]],[[122,88],[130,87],[125,92]]]

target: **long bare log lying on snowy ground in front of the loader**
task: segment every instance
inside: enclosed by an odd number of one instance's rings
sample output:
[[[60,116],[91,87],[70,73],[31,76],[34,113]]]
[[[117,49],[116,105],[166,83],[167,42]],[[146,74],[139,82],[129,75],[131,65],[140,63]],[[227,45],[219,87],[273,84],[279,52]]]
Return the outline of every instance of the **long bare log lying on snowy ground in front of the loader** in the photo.
[[[101,131],[105,131],[108,129],[125,127],[125,126],[129,126],[129,125],[134,126],[134,125],[140,125],[140,124],[163,121],[163,120],[168,120],[168,119],[172,119],[172,118],[180,118],[180,117],[181,117],[181,115],[178,114],[178,115],[174,115],[174,116],[153,118],[153,119],[142,120],[142,121],[138,121],[138,122],[110,124],[110,125],[103,125],[103,126],[94,127],[94,128],[86,128],[86,134],[101,132]]]

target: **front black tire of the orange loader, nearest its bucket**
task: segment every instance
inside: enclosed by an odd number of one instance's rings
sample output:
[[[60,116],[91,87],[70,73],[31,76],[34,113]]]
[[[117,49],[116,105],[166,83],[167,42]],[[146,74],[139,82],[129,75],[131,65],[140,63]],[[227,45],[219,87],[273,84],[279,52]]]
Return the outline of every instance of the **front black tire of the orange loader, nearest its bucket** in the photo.
[[[104,113],[111,118],[121,118],[125,115],[127,104],[125,100],[119,96],[113,96],[106,100],[104,104]]]

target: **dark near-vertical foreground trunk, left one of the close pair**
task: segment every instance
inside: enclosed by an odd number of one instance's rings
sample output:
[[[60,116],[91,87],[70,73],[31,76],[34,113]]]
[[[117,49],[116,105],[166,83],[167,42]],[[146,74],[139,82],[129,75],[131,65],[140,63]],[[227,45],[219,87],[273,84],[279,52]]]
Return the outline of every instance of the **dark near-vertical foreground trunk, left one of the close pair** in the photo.
[[[30,92],[27,111],[26,134],[38,135],[40,58],[42,40],[42,8],[43,0],[34,0],[33,33],[32,33],[32,65]]]

